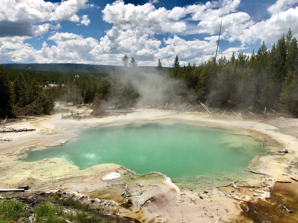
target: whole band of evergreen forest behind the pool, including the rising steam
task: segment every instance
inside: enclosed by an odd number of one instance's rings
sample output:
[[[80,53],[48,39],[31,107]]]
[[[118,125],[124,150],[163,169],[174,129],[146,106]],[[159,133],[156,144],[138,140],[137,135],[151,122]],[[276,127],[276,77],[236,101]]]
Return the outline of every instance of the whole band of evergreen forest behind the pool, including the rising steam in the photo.
[[[251,56],[240,52],[230,59],[210,57],[199,65],[181,67],[177,55],[169,70],[159,59],[154,73],[140,73],[134,57],[125,55],[122,62],[123,73],[48,73],[43,76],[46,79],[28,71],[10,74],[1,67],[0,118],[47,114],[55,100],[115,108],[189,101],[216,108],[268,107],[298,117],[298,43],[291,29],[271,49],[263,42]],[[140,88],[140,83],[149,84],[148,91]],[[160,88],[162,91],[153,97],[150,90]],[[152,97],[144,98],[144,92]]]

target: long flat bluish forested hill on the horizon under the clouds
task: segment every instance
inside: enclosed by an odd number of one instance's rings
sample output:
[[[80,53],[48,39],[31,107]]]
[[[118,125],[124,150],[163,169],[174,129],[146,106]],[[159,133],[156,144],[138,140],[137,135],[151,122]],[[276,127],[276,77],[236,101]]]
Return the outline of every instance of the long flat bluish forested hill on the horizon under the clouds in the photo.
[[[93,64],[2,64],[3,68],[22,69],[22,70],[41,70],[41,71],[58,71],[58,72],[77,72],[80,73],[122,73],[124,66],[114,65],[93,65]],[[170,67],[165,67],[168,70]],[[137,66],[136,69],[140,72],[154,72],[156,67]]]

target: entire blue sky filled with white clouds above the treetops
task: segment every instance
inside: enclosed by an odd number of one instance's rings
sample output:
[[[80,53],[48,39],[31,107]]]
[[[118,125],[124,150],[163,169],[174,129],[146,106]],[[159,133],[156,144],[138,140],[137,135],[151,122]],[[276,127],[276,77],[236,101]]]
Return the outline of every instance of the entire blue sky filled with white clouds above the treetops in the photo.
[[[298,0],[95,1],[5,0],[0,8],[0,63],[122,65],[200,64],[215,55],[247,55],[264,40],[271,48],[291,26]]]

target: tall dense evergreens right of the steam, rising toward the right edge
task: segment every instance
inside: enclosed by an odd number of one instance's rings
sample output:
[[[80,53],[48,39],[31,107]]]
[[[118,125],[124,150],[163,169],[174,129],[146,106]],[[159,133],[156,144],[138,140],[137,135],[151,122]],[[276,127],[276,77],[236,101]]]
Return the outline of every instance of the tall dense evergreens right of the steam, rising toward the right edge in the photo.
[[[214,107],[238,104],[280,109],[298,117],[298,45],[291,29],[271,49],[265,42],[251,56],[240,52],[228,60],[211,57],[207,62],[180,68],[178,56],[169,71],[181,80],[176,95],[205,101]]]

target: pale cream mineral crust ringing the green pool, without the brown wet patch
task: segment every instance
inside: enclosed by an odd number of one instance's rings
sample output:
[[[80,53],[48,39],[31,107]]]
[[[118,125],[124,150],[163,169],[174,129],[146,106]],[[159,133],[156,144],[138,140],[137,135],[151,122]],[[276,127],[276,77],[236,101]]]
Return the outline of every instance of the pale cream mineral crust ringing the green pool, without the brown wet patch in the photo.
[[[86,114],[90,112],[86,108],[74,110]],[[25,155],[24,151],[26,150],[42,149],[45,146],[54,146],[71,140],[76,137],[73,133],[75,129],[149,121],[165,124],[183,122],[218,128],[232,128],[243,132],[243,134],[250,134],[259,140],[266,139],[266,142],[271,143],[271,145],[276,144],[277,141],[283,144],[289,150],[289,153],[283,157],[262,156],[255,158],[254,171],[266,174],[266,176],[263,176],[262,183],[264,190],[259,192],[249,191],[247,188],[235,190],[232,187],[220,188],[221,190],[209,188],[201,192],[179,190],[164,175],[153,173],[139,176],[127,172],[127,169],[116,164],[101,164],[80,170],[61,158],[49,158],[30,163],[19,160]],[[57,114],[53,115],[52,118],[33,118],[30,121],[13,123],[9,126],[14,128],[36,128],[36,131],[0,135],[2,138],[13,138],[13,142],[0,144],[0,188],[15,188],[27,184],[33,191],[62,190],[67,192],[67,196],[69,192],[76,191],[91,198],[98,197],[106,202],[114,201],[113,205],[107,207],[104,204],[92,204],[95,208],[101,207],[107,213],[131,216],[142,222],[244,221],[245,219],[240,216],[242,210],[239,203],[241,201],[231,199],[222,191],[226,191],[229,196],[242,200],[252,199],[252,192],[254,192],[263,199],[269,196],[268,189],[273,185],[276,178],[289,179],[282,173],[291,173],[291,176],[298,178],[297,171],[289,165],[298,153],[298,141],[294,137],[295,132],[298,132],[297,120],[280,118],[276,122],[270,120],[271,125],[259,123],[258,121],[236,120],[236,116],[227,114],[225,116],[210,116],[203,113],[169,114],[169,112],[160,110],[139,109],[131,114],[100,119],[61,119],[61,114]],[[274,127],[274,124],[278,125],[281,130]],[[281,133],[283,128],[288,129],[287,126],[289,125],[293,126],[291,131],[286,132],[287,134]],[[121,175],[121,177],[111,181],[100,180],[106,179],[107,176],[114,178],[116,173],[117,176]],[[256,184],[257,182],[250,183]],[[123,202],[120,194],[124,191],[125,184],[128,185],[128,193],[142,191],[140,196],[130,197],[134,203],[131,210],[121,208],[118,205]],[[90,199],[82,198],[77,194],[76,196],[82,202],[90,203]],[[146,203],[141,208],[138,207],[138,202],[142,204],[150,197],[154,197],[151,202]]]

